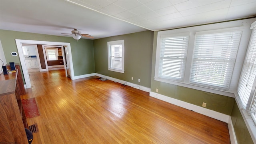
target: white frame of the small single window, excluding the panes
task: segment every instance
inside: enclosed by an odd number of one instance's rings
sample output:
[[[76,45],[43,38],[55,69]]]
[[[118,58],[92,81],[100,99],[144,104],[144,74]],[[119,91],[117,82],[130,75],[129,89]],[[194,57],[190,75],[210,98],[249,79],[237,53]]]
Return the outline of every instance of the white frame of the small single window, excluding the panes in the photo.
[[[119,69],[112,67],[112,58],[115,58],[115,56],[111,55],[111,47],[114,45],[122,45],[122,56],[118,56],[118,58],[121,58],[122,60],[122,68],[119,68]],[[116,40],[116,41],[108,42],[108,70],[124,73],[124,40]]]

